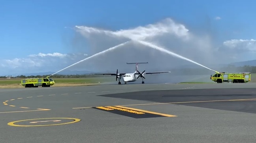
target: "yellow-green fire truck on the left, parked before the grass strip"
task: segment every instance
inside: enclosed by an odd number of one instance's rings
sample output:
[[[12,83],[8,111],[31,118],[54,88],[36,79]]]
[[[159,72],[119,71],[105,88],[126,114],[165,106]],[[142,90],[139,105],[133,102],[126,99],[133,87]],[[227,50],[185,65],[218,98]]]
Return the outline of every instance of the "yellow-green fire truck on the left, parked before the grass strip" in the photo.
[[[22,79],[21,85],[23,87],[50,87],[55,84],[51,78],[28,78]]]

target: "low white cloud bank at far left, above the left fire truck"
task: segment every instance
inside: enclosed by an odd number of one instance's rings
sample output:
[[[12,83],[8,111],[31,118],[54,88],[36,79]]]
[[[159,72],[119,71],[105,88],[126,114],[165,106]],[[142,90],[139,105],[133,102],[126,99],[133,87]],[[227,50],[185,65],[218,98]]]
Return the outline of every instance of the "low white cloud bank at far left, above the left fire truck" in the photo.
[[[55,72],[88,57],[87,54],[38,53],[24,58],[0,60],[2,74]]]

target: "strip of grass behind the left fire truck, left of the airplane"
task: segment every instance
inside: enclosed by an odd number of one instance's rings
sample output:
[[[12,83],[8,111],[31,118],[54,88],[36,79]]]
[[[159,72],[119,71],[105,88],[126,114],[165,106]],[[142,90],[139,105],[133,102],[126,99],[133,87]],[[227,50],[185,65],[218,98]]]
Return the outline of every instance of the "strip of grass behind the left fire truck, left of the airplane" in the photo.
[[[113,77],[107,77],[107,78],[54,78],[55,83],[103,83],[103,82],[112,82],[116,81],[114,76]],[[21,79],[20,78],[13,78],[13,79],[6,79],[2,78],[0,79],[0,85],[14,85],[14,84],[20,84]]]

